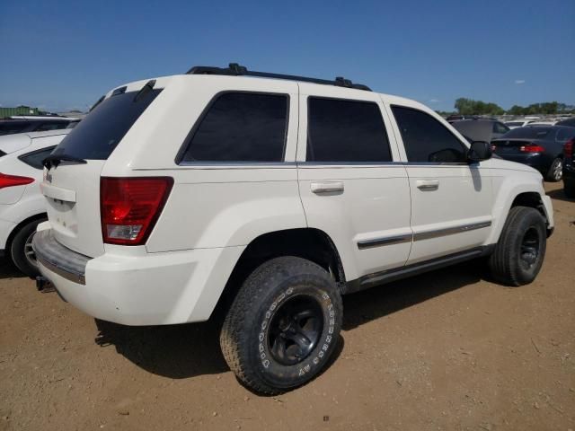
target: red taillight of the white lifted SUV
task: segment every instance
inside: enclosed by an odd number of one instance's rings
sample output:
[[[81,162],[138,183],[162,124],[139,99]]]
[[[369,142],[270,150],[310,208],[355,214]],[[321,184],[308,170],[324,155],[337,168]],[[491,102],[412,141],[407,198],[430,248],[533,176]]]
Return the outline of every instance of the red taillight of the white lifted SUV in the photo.
[[[103,177],[100,181],[103,241],[122,245],[146,242],[172,186],[170,177]]]

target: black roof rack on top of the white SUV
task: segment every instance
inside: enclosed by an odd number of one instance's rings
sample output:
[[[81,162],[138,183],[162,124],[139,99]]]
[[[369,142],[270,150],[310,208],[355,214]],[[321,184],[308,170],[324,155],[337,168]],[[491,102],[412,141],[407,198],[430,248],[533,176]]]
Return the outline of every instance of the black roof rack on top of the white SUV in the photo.
[[[330,81],[327,79],[309,78],[306,76],[270,74],[268,72],[255,72],[248,70],[247,67],[240,66],[237,63],[230,63],[229,67],[193,66],[188,72],[186,72],[186,75],[259,76],[261,78],[287,79],[289,81],[302,81],[313,84],[336,85],[338,87],[355,88],[357,90],[371,92],[371,89],[367,85],[353,84],[349,79],[345,79],[341,76],[336,77],[334,81]]]

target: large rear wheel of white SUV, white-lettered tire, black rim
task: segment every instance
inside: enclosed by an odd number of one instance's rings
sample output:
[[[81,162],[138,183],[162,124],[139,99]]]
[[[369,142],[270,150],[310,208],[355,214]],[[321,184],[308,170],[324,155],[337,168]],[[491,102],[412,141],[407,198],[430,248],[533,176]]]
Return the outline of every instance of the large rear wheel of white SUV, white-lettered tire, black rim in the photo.
[[[306,259],[270,259],[246,278],[226,316],[227,365],[253,391],[309,382],[337,347],[343,306],[329,273]]]

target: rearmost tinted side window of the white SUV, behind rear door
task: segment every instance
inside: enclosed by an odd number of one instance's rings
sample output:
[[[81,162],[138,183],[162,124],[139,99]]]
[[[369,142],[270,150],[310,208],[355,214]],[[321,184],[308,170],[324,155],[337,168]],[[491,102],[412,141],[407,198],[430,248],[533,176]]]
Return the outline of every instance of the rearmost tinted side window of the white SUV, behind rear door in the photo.
[[[281,162],[288,96],[222,94],[209,107],[183,155],[184,162]]]

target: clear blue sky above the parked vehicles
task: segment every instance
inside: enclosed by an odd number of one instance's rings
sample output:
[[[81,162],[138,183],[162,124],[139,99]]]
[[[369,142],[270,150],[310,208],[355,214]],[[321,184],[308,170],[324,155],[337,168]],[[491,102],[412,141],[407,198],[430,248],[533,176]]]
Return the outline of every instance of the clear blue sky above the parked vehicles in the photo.
[[[575,1],[0,2],[0,105],[81,109],[112,87],[239,62],[452,110],[575,104]]]

